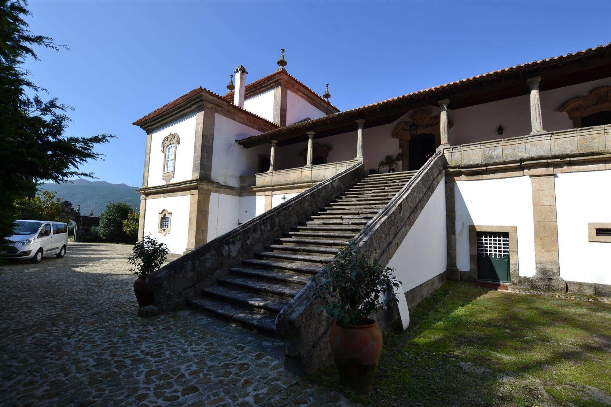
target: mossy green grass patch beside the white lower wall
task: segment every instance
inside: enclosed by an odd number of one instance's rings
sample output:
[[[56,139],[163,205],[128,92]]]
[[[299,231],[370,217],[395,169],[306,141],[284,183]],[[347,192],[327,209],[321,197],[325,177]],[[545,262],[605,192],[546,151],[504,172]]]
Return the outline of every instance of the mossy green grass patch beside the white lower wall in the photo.
[[[611,405],[611,306],[447,283],[389,330],[364,405]],[[341,391],[335,367],[309,380]]]

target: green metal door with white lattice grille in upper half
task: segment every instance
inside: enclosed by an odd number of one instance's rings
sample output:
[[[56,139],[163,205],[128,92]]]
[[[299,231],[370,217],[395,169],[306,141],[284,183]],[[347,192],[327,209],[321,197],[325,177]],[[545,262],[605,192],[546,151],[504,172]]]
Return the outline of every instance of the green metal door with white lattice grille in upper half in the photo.
[[[477,233],[477,279],[510,282],[509,233]]]

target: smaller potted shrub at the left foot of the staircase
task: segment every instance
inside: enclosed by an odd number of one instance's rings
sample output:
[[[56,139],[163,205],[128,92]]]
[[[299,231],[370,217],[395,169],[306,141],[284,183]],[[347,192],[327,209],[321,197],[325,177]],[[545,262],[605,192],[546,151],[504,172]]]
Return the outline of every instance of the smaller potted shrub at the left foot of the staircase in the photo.
[[[133,253],[128,262],[133,265],[130,271],[137,274],[134,281],[134,293],[138,306],[144,307],[155,303],[155,292],[148,288],[146,278],[166,261],[168,249],[166,244],[157,241],[151,235],[145,236],[134,244]]]

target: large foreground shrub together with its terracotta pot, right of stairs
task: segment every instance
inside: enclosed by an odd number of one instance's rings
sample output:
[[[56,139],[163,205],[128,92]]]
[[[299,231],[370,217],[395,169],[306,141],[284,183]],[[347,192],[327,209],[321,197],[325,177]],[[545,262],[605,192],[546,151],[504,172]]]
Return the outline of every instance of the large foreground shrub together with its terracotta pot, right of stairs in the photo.
[[[344,244],[326,266],[326,277],[315,293],[323,301],[318,312],[324,310],[334,319],[329,345],[340,382],[357,394],[371,391],[382,351],[382,334],[370,315],[396,301],[394,287],[399,287],[394,270],[383,268],[375,257],[358,251],[353,243]]]

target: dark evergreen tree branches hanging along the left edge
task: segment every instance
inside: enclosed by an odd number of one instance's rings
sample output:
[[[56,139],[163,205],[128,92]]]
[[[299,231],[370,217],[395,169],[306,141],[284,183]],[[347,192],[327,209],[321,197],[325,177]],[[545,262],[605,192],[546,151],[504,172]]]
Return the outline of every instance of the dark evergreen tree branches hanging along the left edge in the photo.
[[[0,1],[0,240],[12,233],[14,202],[33,197],[42,180],[60,183],[76,176],[92,177],[79,167],[101,158],[94,147],[114,137],[64,135],[70,106],[57,98],[42,100],[39,94],[45,89],[36,86],[21,65],[27,57],[38,59],[34,47],[59,51],[65,46],[29,31],[24,18],[31,13],[25,5],[23,1]]]

